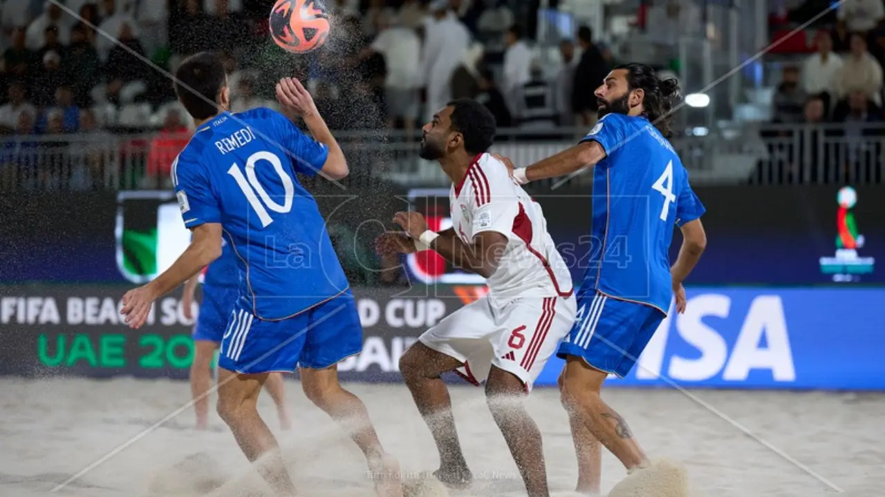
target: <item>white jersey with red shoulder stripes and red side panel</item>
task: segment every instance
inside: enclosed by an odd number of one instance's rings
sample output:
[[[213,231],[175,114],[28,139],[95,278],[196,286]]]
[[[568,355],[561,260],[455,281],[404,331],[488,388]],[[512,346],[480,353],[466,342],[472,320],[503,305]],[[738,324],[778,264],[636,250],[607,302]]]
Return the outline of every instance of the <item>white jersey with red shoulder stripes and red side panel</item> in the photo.
[[[497,271],[486,283],[493,301],[518,296],[566,297],[572,275],[547,233],[547,219],[512,178],[507,166],[490,154],[473,159],[465,177],[449,193],[452,227],[471,243],[482,232],[507,237]]]

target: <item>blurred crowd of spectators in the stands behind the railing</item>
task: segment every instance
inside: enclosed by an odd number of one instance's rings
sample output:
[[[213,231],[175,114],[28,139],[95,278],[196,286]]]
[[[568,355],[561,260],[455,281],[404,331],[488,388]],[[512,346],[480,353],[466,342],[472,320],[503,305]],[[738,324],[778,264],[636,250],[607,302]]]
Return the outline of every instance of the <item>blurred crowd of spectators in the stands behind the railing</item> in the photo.
[[[636,27],[650,34],[649,23],[695,19],[688,15],[693,2],[643,0]],[[0,187],[81,189],[101,187],[99,178],[107,187],[114,169],[138,170],[147,181],[115,180],[112,187],[162,186],[193,128],[169,76],[200,50],[226,57],[233,111],[273,107],[273,81],[296,75],[308,81],[330,127],[373,130],[389,141],[414,141],[430,112],[458,97],[485,103],[499,126],[527,130],[521,137],[557,125],[587,129],[596,99],[592,85],[575,82],[602,80],[615,64],[589,27],[577,27],[555,52],[539,48],[531,39],[541,22],[533,2],[329,0],[334,29],[326,46],[300,56],[270,39],[272,5],[0,0],[0,164],[18,166],[0,169]],[[773,51],[782,62],[773,123],[846,125],[827,136],[878,133],[866,125],[885,120],[882,0],[840,4],[784,39],[779,33],[793,33],[827,6],[779,0],[770,7]],[[393,129],[402,131],[379,131]],[[763,139],[776,148],[772,141],[797,138],[791,129],[766,129]],[[804,138],[819,141],[819,133]],[[789,163],[804,159],[797,140]],[[59,167],[70,172],[48,172]]]

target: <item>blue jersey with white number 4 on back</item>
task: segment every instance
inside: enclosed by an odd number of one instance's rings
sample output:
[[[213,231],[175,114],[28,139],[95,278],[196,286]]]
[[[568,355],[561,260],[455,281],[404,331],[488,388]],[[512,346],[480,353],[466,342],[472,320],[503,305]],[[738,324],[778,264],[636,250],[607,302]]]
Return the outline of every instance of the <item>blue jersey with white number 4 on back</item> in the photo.
[[[593,170],[594,265],[581,290],[594,288],[666,314],[673,298],[669,248],[673,225],[704,214],[689,173],[648,119],[607,114],[581,141],[605,158]]]

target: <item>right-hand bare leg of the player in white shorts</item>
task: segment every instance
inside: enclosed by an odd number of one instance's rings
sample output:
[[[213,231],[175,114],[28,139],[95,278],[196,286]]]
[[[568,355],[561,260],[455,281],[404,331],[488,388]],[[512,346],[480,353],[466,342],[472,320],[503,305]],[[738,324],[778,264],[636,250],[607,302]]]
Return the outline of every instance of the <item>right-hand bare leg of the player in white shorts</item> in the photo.
[[[528,416],[522,403],[525,397],[522,380],[492,366],[486,382],[486,401],[492,417],[510,447],[528,497],[549,497],[541,431],[535,420]]]

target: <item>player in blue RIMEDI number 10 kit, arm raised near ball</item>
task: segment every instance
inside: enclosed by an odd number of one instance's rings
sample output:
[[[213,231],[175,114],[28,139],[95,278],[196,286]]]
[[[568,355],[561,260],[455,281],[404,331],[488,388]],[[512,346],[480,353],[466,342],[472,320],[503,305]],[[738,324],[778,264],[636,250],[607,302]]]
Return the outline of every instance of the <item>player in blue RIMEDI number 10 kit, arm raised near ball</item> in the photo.
[[[216,55],[189,57],[175,77],[196,124],[172,167],[193,240],[167,271],[123,296],[127,324],[143,325],[158,296],[218,258],[223,238],[242,278],[219,350],[218,411],[243,453],[262,459],[258,470],[276,493],[296,494],[256,402],[269,373],[299,368],[307,397],[366,455],[376,492],[402,496],[396,460],[381,447],[365,405],[338,382],[337,363],[360,352],[362,328],[325,221],[296,177],[343,178],[341,147],[297,80],[281,80],[277,98],[287,114],[304,119],[313,139],[270,109],[227,111],[227,74]]]

